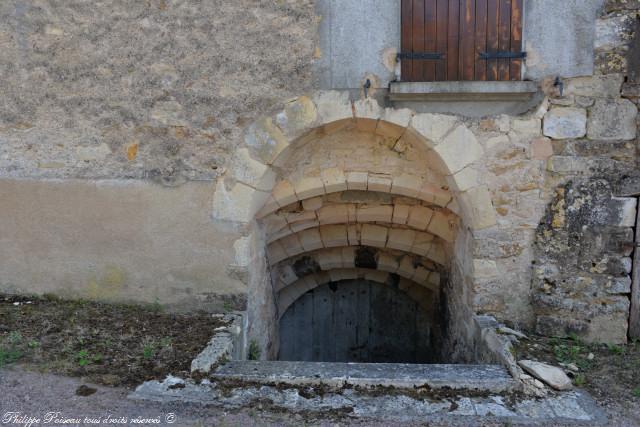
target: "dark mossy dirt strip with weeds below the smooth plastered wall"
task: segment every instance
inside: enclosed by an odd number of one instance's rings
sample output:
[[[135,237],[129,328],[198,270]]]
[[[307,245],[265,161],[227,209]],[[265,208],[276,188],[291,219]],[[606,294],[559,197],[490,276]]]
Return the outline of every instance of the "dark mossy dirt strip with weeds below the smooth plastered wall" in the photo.
[[[133,387],[188,376],[191,360],[222,324],[211,314],[176,315],[155,305],[0,295],[0,368],[19,364]]]

